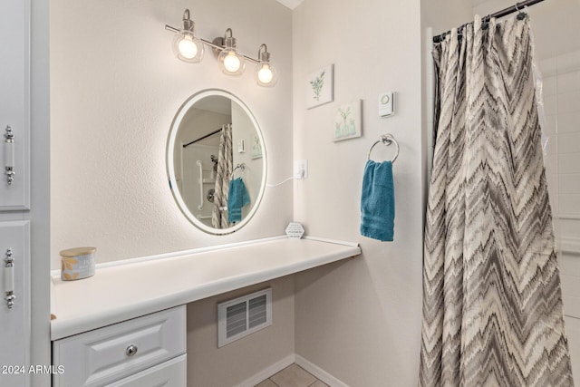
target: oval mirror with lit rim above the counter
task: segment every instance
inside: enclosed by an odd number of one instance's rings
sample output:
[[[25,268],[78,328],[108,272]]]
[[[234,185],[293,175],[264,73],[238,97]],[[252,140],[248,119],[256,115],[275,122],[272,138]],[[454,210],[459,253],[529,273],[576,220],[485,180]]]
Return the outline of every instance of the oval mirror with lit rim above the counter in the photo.
[[[169,187],[189,221],[211,234],[247,224],[266,187],[266,148],[256,118],[230,92],[192,95],[167,146]]]

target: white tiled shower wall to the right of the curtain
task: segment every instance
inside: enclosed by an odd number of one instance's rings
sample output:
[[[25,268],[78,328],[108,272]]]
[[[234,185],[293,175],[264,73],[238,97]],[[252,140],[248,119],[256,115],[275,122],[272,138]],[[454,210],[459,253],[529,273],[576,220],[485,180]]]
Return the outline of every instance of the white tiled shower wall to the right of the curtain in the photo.
[[[580,6],[578,7],[580,12]],[[546,176],[568,344],[580,378],[580,50],[540,61],[546,125]]]

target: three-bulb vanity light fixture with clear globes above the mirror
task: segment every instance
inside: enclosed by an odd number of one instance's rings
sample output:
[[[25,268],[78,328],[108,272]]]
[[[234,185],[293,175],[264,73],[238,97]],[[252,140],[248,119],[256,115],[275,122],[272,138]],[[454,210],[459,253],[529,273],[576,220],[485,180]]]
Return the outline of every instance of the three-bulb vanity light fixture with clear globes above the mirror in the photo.
[[[270,53],[266,44],[261,44],[258,59],[251,58],[237,51],[236,38],[231,28],[227,28],[224,37],[217,37],[213,42],[198,37],[195,34],[195,23],[189,18],[189,9],[183,13],[183,28],[175,28],[165,24],[165,29],[175,33],[173,52],[183,62],[199,63],[203,59],[204,45],[213,48],[218,58],[221,71],[227,75],[241,75],[246,69],[246,61],[256,63],[254,77],[256,83],[264,87],[272,87],[277,82],[275,67],[270,63]]]

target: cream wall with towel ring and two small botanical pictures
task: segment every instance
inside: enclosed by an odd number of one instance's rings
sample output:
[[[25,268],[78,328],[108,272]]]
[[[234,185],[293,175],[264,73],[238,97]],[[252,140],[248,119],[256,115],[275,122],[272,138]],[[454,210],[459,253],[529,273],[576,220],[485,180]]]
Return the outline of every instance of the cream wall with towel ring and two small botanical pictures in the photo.
[[[294,11],[295,159],[309,177],[295,183],[295,220],[316,236],[359,241],[362,257],[295,276],[296,353],[353,386],[416,385],[421,322],[422,191],[420,4],[306,0]],[[334,102],[305,109],[306,76],[334,63]],[[381,92],[396,114],[378,117]],[[362,137],[333,142],[333,112],[362,100]],[[361,237],[367,150],[391,132],[394,242]],[[375,160],[392,156],[377,146]]]

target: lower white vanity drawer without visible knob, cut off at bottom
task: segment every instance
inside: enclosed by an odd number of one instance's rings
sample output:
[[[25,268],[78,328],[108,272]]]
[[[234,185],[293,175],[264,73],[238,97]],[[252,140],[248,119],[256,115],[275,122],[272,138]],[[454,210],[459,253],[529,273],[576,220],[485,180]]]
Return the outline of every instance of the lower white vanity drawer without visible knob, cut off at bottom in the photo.
[[[185,387],[187,355],[182,354],[168,362],[160,363],[148,370],[135,373],[107,387]]]

